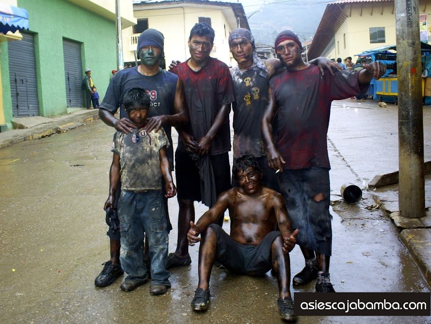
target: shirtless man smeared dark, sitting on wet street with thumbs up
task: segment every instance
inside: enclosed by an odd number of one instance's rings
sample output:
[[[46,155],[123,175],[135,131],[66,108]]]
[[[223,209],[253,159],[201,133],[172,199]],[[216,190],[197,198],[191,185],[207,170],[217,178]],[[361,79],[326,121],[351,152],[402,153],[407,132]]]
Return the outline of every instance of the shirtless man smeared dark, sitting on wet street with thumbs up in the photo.
[[[255,157],[236,159],[232,173],[239,187],[221,193],[196,224],[190,222],[189,245],[201,241],[199,284],[192,309],[208,308],[209,277],[214,262],[218,261],[236,274],[262,276],[273,269],[278,279],[280,316],[296,320],[290,292],[289,252],[295,246],[298,230],[292,230],[281,195],[262,186],[263,172]],[[226,209],[231,216],[230,236],[214,223]]]

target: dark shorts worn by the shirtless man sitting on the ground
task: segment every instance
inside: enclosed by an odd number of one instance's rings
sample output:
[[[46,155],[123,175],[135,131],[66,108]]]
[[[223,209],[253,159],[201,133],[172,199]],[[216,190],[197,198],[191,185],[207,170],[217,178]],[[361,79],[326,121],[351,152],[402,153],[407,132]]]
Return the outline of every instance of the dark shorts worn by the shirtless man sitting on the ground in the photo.
[[[263,276],[272,269],[271,245],[281,236],[279,231],[269,232],[259,245],[246,245],[232,240],[218,224],[209,227],[217,236],[217,261],[226,269],[250,276]]]

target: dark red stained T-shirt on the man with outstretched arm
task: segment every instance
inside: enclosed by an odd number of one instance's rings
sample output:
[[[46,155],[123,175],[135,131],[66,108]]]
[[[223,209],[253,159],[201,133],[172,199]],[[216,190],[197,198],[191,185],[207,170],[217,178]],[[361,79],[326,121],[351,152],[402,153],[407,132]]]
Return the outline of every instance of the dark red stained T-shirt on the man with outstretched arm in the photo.
[[[330,169],[327,133],[331,103],[365,93],[358,72],[320,74],[318,67],[285,71],[270,80],[276,103],[274,141],[285,169],[321,167]]]

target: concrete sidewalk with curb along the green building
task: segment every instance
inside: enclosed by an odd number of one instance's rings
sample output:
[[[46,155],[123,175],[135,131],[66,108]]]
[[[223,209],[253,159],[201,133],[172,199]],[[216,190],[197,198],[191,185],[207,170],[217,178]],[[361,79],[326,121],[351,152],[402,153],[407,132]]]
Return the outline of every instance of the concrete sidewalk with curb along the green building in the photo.
[[[12,129],[11,131],[0,133],[0,148],[41,139],[57,133],[64,133],[96,119],[99,119],[98,110],[83,110],[53,118],[53,121],[31,128]]]

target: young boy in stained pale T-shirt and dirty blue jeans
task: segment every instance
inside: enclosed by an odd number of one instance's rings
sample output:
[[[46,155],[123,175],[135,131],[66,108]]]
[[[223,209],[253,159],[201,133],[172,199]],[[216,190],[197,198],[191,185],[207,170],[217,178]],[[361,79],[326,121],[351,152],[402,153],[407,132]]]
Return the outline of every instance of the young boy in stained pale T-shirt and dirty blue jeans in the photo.
[[[121,267],[127,277],[120,285],[124,291],[150,280],[143,264],[143,238],[148,237],[151,261],[151,295],[163,295],[170,287],[166,270],[168,230],[163,203],[162,177],[165,197],[175,196],[166,148],[169,146],[163,128],[147,132],[150,96],[142,88],[132,88],[124,95],[124,108],[136,125],[132,133],[117,131],[112,144],[113,160],[110,171],[109,197],[104,209],[112,207],[121,177],[121,196],[118,218],[121,232]]]

